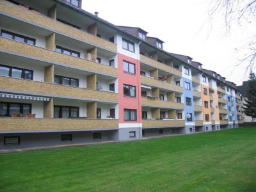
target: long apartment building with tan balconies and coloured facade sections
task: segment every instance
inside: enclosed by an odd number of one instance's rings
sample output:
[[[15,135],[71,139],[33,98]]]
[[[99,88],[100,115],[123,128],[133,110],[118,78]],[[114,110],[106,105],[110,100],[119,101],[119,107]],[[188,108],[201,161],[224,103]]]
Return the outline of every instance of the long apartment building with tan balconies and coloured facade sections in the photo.
[[[236,84],[81,0],[0,1],[0,149],[237,127]],[[238,106],[238,107],[237,107]]]

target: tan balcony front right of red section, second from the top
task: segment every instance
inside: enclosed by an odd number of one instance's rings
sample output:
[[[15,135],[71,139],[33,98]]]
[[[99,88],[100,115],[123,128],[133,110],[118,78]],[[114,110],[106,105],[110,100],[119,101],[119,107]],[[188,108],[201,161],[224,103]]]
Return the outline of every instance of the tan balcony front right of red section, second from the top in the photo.
[[[170,90],[172,92],[179,92],[179,93],[183,92],[183,88],[181,86],[176,86],[174,84],[159,81],[151,77],[140,76],[140,80],[141,80],[141,83],[147,84],[148,86],[163,88],[164,90]]]

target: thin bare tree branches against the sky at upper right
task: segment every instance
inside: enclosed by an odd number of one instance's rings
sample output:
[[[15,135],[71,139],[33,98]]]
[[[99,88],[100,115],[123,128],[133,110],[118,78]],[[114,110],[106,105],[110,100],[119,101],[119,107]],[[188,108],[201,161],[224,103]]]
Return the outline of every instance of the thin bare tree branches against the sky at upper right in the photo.
[[[226,33],[232,33],[232,28],[246,28],[246,25],[256,25],[256,0],[211,0],[209,4],[209,20],[221,16],[225,22]],[[244,47],[237,47],[237,51],[246,51],[243,58],[240,58],[237,65],[245,63],[246,72],[253,69],[256,61],[256,31]]]

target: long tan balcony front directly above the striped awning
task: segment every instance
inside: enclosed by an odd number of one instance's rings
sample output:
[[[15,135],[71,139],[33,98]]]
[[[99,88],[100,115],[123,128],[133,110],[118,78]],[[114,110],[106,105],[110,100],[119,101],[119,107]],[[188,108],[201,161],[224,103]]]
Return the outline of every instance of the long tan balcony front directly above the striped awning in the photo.
[[[35,95],[47,95],[47,97],[63,97],[84,100],[102,100],[117,102],[117,93],[98,92],[86,88],[77,88],[61,84],[44,83],[27,79],[0,76],[0,90],[9,90],[12,93],[26,92]]]

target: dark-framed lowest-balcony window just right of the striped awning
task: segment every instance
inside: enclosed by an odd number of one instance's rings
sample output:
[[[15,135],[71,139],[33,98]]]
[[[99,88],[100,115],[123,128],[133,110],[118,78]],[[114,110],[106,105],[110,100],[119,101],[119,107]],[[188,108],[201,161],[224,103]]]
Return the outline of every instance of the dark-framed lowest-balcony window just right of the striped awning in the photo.
[[[78,107],[54,106],[54,118],[76,118],[79,116]]]

